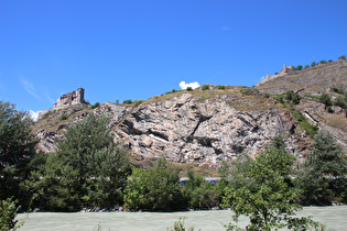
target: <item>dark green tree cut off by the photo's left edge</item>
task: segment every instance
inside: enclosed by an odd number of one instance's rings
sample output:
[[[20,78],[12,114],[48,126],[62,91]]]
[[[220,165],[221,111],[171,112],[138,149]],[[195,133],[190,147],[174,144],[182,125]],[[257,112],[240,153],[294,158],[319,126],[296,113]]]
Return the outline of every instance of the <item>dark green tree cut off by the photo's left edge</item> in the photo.
[[[0,101],[0,199],[14,196],[24,202],[20,183],[29,178],[30,162],[35,156],[36,139],[31,133],[33,121],[14,105]]]

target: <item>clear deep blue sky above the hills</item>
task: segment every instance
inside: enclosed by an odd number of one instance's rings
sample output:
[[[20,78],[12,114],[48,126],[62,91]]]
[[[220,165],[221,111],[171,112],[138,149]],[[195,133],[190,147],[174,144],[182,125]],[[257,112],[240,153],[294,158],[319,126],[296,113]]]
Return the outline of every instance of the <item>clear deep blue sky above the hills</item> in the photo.
[[[0,100],[149,99],[347,55],[346,0],[0,0]]]

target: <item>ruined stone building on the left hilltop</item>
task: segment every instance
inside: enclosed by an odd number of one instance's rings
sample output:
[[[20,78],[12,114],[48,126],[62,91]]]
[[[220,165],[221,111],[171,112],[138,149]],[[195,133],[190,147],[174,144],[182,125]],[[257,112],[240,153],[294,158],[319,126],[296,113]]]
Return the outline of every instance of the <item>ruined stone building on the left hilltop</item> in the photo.
[[[59,97],[53,109],[62,109],[78,103],[87,103],[85,100],[85,89],[83,88],[78,88],[73,92],[68,92]]]

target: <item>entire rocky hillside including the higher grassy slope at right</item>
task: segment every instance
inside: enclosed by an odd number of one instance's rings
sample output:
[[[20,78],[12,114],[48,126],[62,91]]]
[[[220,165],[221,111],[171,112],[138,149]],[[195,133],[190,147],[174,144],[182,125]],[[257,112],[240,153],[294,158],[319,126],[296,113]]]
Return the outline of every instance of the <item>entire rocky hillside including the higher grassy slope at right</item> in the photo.
[[[69,107],[45,111],[35,123],[39,148],[54,152],[55,142],[64,138],[66,128],[88,113],[108,113],[115,131],[115,142],[129,146],[132,162],[165,155],[174,163],[216,167],[223,160],[236,160],[241,153],[252,156],[261,152],[276,134],[282,134],[286,148],[305,156],[312,145],[297,117],[307,124],[324,128],[334,134],[347,151],[347,119],[341,107],[328,112],[318,99],[329,87],[346,90],[347,63],[334,62],[294,75],[271,79],[256,88],[205,85],[193,91],[169,92],[131,105],[106,102],[90,106],[84,100]],[[299,105],[279,103],[272,94],[299,90]],[[339,94],[328,90],[333,99]],[[302,119],[301,119],[302,120]]]

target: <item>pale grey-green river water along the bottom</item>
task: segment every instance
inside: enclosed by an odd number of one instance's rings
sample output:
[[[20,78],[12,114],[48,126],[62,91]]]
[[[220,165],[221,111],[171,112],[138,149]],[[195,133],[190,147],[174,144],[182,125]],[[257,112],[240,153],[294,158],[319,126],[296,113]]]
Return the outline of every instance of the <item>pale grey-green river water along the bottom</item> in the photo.
[[[17,219],[24,220],[20,230],[162,230],[172,227],[180,217],[185,217],[185,227],[194,230],[225,230],[223,224],[231,221],[232,212],[188,211],[188,212],[34,212],[21,213]],[[312,216],[315,221],[325,223],[328,229],[347,231],[347,206],[305,207],[297,216]],[[246,227],[248,219],[240,219]]]

